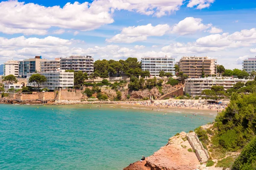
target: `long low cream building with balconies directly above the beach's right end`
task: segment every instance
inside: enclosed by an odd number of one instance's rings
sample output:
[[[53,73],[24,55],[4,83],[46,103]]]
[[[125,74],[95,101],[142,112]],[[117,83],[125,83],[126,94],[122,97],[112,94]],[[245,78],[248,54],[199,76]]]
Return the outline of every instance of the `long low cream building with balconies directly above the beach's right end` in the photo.
[[[211,89],[213,85],[223,86],[224,90],[227,90],[237,82],[246,83],[247,81],[249,79],[189,78],[185,80],[185,93],[191,96],[201,96],[203,90]]]

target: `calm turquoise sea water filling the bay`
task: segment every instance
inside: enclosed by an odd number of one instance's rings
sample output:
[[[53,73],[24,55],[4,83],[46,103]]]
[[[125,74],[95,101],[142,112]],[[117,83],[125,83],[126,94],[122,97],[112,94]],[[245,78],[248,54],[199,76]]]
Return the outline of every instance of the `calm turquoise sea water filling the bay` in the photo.
[[[141,111],[106,105],[100,110],[96,105],[0,105],[0,169],[121,170],[159,150],[176,133],[214,119]]]

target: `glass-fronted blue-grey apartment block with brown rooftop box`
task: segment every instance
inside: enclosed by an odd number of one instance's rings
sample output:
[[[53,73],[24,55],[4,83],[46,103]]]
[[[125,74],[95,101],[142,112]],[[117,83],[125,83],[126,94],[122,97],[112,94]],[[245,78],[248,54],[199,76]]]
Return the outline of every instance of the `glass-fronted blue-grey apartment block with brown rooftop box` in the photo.
[[[19,76],[26,78],[28,73],[40,71],[40,62],[44,61],[42,56],[35,56],[33,59],[24,59],[19,62]]]

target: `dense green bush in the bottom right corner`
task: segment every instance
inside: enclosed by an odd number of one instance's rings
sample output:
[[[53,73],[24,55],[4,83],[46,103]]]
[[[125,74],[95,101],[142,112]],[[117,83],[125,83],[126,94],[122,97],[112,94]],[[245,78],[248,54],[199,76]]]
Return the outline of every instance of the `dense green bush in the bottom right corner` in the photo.
[[[256,137],[247,144],[235,160],[231,170],[256,169]]]

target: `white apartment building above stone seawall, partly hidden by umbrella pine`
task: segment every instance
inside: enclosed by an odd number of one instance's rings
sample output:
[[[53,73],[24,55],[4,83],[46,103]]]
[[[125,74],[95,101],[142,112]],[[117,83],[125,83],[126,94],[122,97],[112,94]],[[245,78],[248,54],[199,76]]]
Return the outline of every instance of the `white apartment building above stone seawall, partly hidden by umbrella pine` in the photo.
[[[29,77],[32,74],[27,74],[27,86],[34,87],[34,83],[29,83]],[[41,72],[39,73],[44,75],[47,79],[47,82],[44,82],[41,85],[41,88],[48,88],[49,90],[55,90],[58,88],[67,89],[74,86],[74,73],[65,72],[65,70],[51,71],[51,72]]]

